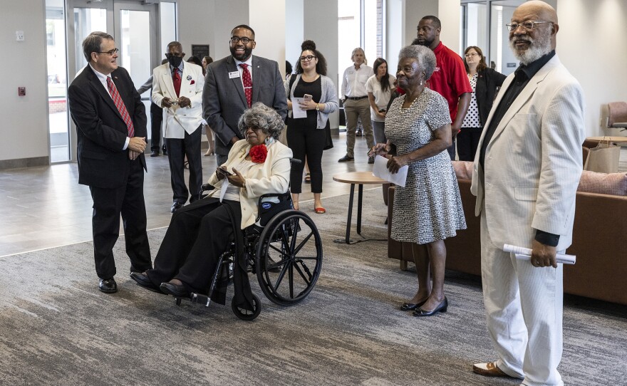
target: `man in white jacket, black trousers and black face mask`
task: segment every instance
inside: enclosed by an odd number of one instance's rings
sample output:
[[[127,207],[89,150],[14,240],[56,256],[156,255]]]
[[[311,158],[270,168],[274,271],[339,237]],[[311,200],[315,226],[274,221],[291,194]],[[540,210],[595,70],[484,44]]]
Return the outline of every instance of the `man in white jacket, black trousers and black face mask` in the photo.
[[[200,138],[202,119],[202,67],[183,61],[181,43],[167,45],[168,63],[152,71],[152,102],[163,108],[163,136],[170,161],[174,213],[187,202],[195,202],[202,185]],[[190,189],[185,186],[185,157],[190,162]]]

